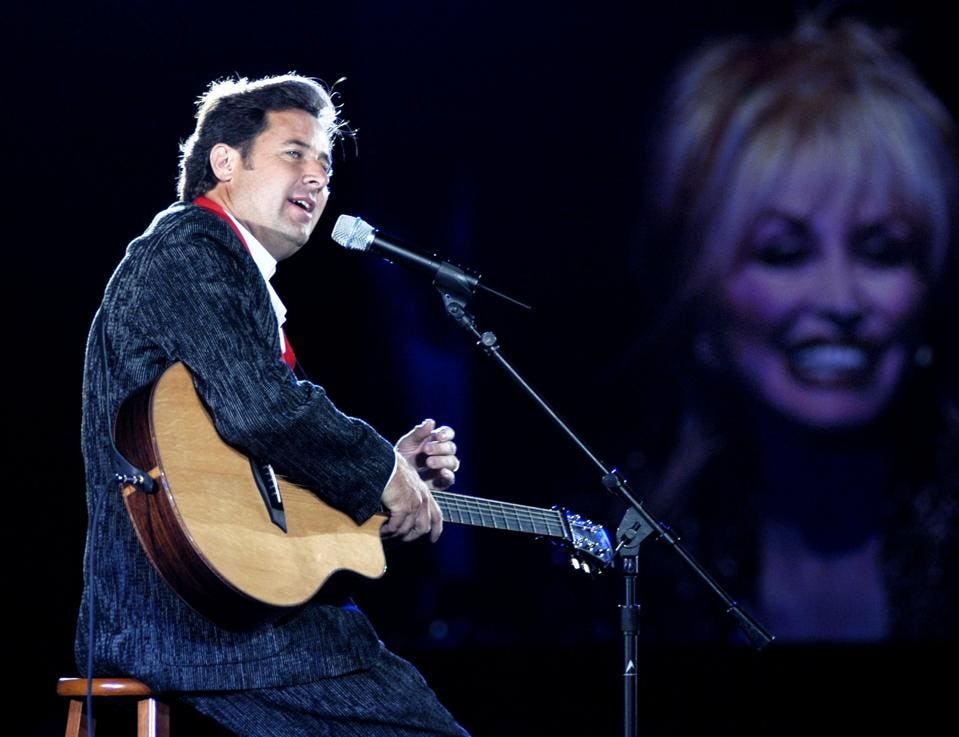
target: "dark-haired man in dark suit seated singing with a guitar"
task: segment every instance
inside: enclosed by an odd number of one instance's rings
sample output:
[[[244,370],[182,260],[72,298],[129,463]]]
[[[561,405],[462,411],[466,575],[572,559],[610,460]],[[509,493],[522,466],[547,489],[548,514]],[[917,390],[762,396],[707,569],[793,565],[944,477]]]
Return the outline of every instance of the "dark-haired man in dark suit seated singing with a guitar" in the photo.
[[[144,553],[115,480],[112,428],[131,393],[182,362],[222,439],[383,534],[436,540],[431,490],[454,481],[453,430],[424,420],[396,443],[299,380],[270,285],[328,197],[339,128],[298,75],[214,83],[182,146],[179,201],[132,241],[87,342],[81,671],[131,676],[241,735],[464,735],[348,599],[226,629],[184,603]]]

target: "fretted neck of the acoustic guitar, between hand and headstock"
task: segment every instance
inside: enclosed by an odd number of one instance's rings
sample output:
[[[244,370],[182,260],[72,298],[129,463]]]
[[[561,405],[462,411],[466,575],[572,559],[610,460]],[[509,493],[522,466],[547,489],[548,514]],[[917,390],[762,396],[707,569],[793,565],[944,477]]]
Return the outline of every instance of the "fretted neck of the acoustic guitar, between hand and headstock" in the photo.
[[[447,491],[434,491],[433,498],[443,512],[443,519],[449,522],[548,537],[568,537],[563,514],[556,509],[527,507]]]

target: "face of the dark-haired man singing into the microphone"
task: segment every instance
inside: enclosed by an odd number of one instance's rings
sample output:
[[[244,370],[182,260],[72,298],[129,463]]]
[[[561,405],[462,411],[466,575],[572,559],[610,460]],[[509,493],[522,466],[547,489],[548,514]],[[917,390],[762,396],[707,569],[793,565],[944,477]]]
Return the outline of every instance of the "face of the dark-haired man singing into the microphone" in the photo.
[[[238,154],[239,152],[235,152]],[[309,240],[326,206],[330,139],[303,110],[267,113],[266,128],[222,181],[224,204],[277,260]]]

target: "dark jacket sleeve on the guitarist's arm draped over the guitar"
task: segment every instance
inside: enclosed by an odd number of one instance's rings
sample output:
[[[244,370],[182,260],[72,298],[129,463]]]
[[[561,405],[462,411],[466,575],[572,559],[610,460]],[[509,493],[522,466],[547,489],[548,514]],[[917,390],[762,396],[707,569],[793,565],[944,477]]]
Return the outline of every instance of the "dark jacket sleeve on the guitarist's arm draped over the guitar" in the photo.
[[[200,216],[159,239],[140,329],[190,368],[226,442],[362,522],[380,508],[392,445],[282,361],[266,285],[230,239],[225,224]]]

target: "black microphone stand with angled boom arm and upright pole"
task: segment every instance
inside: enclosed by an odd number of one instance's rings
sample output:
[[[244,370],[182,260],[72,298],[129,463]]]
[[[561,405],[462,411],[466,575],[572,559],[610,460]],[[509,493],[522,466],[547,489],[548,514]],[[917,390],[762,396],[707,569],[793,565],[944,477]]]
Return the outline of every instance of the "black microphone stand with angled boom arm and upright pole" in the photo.
[[[667,543],[680,558],[699,576],[725,606],[726,614],[731,616],[739,628],[746,634],[757,650],[766,647],[773,636],[744,611],[720,586],[720,584],[693,558],[680,544],[679,538],[665,524],[658,522],[633,496],[626,479],[615,469],[607,468],[597,456],[577,437],[572,429],[559,417],[546,401],[520,376],[519,372],[503,356],[499,340],[490,331],[483,331],[476,324],[476,318],[470,314],[466,305],[473,296],[477,279],[470,279],[462,270],[449,263],[443,263],[433,278],[433,285],[439,290],[446,314],[464,328],[474,338],[487,356],[495,360],[509,376],[539,405],[553,422],[586,455],[601,474],[604,487],[616,494],[627,505],[627,510],[616,531],[615,553],[619,556],[623,570],[624,598],[620,605],[620,628],[623,636],[623,737],[637,737],[638,732],[638,643],[639,610],[637,592],[637,574],[639,571],[639,546],[649,535]],[[511,300],[514,301],[515,300]]]

